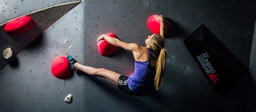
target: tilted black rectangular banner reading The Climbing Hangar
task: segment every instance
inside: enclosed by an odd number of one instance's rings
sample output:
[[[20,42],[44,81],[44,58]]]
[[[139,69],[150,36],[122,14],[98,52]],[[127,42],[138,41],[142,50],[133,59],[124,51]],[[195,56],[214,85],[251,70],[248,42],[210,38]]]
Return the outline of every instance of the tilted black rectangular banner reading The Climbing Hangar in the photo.
[[[204,25],[184,43],[219,96],[224,95],[242,75],[250,73]]]

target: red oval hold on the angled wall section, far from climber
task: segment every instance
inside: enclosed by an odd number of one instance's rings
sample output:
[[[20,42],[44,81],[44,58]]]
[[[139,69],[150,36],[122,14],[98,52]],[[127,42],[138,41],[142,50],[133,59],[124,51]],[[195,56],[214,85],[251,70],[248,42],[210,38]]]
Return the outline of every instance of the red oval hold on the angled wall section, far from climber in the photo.
[[[21,34],[34,26],[34,21],[29,16],[23,16],[14,20],[11,20],[4,26],[4,31],[8,34]]]

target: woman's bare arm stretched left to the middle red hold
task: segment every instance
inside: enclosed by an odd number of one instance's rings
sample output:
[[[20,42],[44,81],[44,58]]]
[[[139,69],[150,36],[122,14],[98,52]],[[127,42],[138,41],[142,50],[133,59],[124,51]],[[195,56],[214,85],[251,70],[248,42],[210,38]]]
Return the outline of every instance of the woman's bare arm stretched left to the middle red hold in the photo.
[[[126,43],[126,42],[120,41],[117,38],[111,38],[110,36],[105,34],[100,35],[97,42],[99,42],[102,39],[105,39],[107,42],[109,42],[113,46],[121,47],[126,50],[139,51],[139,48],[140,48],[139,44],[137,43]]]

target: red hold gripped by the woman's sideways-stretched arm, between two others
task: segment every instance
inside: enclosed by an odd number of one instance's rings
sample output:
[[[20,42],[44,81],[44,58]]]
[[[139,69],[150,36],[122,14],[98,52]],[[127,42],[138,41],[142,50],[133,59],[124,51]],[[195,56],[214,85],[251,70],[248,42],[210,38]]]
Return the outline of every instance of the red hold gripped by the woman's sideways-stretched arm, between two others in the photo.
[[[108,35],[112,38],[117,38],[118,39],[117,35],[114,34],[114,33],[108,33],[106,35]],[[117,50],[117,47],[113,46],[112,44],[107,42],[105,39],[103,39],[103,40],[100,40],[98,42],[98,49],[99,49],[99,54],[100,55],[107,56],[107,55],[113,54]]]

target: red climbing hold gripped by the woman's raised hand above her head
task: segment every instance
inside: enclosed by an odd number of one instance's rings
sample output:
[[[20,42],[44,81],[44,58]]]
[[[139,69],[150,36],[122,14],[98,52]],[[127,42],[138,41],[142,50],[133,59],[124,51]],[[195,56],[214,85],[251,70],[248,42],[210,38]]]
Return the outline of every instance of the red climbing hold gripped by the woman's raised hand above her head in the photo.
[[[164,20],[164,24],[165,24],[165,35],[168,35],[171,29],[171,25],[169,21],[167,21],[166,19]],[[158,19],[156,14],[151,15],[147,19],[147,27],[149,27],[150,31],[153,34],[160,34],[160,20]]]

